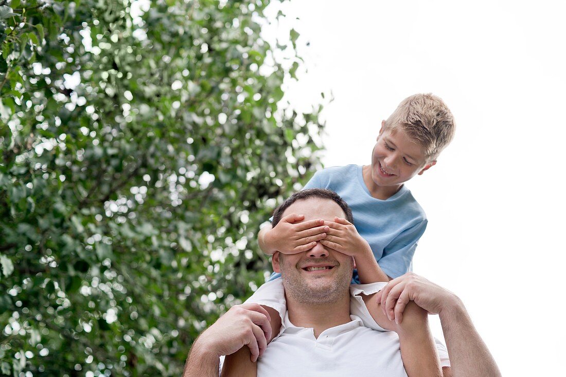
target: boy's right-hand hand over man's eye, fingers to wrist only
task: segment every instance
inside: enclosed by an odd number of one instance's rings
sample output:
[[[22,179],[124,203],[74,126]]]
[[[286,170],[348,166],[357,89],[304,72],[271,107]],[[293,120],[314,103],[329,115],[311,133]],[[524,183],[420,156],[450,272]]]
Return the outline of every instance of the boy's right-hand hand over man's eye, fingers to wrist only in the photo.
[[[354,224],[339,217],[335,217],[334,221],[324,222],[330,229],[327,231],[327,236],[320,241],[321,244],[354,258],[361,253],[371,254],[370,244],[359,235]]]

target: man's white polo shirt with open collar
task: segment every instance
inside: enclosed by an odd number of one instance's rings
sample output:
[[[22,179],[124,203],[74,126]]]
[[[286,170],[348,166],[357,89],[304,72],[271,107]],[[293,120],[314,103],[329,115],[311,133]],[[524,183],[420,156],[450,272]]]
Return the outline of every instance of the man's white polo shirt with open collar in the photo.
[[[269,343],[263,356],[258,359],[258,377],[405,377],[397,333],[385,331],[375,323],[362,298],[358,296],[359,293],[378,292],[385,284],[387,283],[350,285],[351,322],[328,328],[318,339],[312,328],[294,326],[289,321],[289,315],[285,314],[279,335]],[[436,346],[441,366],[450,366],[444,345],[437,340]]]

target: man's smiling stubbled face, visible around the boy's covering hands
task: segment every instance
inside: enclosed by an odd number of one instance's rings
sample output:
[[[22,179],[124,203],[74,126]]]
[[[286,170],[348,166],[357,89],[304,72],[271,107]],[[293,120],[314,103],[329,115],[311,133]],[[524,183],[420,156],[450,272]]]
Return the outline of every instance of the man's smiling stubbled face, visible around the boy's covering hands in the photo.
[[[303,222],[314,219],[334,221],[344,211],[329,199],[298,200],[283,213],[303,214]],[[353,258],[316,242],[314,248],[298,254],[273,254],[273,270],[281,272],[285,293],[305,304],[330,304],[349,294]]]

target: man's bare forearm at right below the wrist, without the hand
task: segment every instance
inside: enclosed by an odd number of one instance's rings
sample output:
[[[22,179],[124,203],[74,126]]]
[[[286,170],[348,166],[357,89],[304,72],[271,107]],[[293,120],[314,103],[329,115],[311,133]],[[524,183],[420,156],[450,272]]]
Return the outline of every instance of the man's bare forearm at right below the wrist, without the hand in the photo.
[[[501,376],[495,359],[459,299],[443,309],[439,317],[454,377]]]

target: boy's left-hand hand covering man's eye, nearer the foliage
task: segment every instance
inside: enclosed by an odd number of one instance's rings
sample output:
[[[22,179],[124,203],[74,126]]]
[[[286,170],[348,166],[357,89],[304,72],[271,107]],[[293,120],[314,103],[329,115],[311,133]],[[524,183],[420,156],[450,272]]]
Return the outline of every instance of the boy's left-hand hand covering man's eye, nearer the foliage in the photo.
[[[277,225],[265,233],[264,242],[269,251],[276,251],[283,254],[297,254],[306,252],[316,246],[316,241],[320,241],[327,236],[329,227],[324,225],[324,220],[303,220],[305,215],[290,214],[285,216]]]

